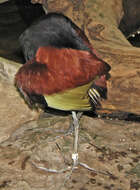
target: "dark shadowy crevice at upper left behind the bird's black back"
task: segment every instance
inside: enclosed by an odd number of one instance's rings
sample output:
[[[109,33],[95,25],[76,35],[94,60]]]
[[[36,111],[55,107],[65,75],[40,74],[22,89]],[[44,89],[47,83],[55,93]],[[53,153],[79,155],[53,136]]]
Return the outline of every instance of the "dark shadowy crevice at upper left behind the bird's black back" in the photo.
[[[0,56],[24,63],[18,38],[36,19],[45,14],[40,4],[11,0],[0,4]]]

